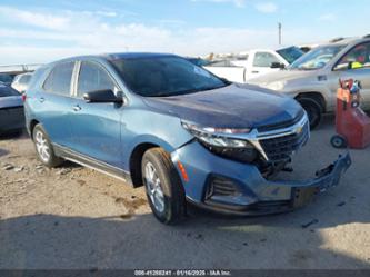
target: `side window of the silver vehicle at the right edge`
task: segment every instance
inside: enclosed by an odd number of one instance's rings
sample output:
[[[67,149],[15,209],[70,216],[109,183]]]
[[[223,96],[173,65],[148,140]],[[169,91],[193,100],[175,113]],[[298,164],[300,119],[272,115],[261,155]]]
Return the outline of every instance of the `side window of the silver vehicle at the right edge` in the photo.
[[[336,69],[360,69],[370,67],[370,43],[363,43],[354,47],[344,55],[338,62]]]

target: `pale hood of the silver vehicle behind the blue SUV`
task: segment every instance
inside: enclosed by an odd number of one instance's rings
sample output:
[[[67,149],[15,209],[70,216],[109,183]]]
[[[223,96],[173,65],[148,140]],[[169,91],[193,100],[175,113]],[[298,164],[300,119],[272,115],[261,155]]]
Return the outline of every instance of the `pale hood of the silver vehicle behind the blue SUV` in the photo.
[[[279,70],[248,80],[248,83],[263,86],[276,81],[290,81],[318,76],[317,70]]]

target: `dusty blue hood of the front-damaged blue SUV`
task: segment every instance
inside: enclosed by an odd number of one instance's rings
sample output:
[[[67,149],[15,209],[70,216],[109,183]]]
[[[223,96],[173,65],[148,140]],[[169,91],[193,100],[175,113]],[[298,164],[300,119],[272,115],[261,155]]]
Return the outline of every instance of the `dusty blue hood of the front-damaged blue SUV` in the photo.
[[[288,97],[250,85],[184,96],[144,98],[148,107],[204,127],[254,128],[291,120],[302,109]]]

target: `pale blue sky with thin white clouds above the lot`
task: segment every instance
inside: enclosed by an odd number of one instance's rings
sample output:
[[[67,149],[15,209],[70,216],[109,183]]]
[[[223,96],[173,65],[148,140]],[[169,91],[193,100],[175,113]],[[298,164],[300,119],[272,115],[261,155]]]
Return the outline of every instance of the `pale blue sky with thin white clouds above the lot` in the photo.
[[[370,33],[369,0],[0,0],[0,65],[102,52],[201,56]]]

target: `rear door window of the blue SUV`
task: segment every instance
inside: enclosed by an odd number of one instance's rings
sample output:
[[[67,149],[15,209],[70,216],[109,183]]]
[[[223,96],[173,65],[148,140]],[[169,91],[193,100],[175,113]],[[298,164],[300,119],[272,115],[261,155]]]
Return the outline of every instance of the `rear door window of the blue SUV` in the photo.
[[[43,89],[48,92],[69,96],[73,68],[74,62],[63,62],[57,65],[44,81]]]

